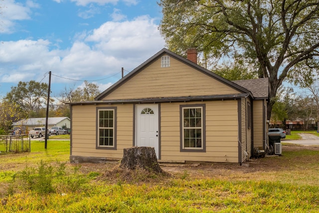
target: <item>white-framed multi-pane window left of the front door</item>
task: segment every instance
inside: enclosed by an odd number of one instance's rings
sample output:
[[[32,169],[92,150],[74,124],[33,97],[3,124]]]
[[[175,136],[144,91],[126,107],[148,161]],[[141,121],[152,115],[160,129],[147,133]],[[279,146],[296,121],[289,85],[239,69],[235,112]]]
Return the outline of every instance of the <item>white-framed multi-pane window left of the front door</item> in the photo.
[[[116,149],[116,108],[98,108],[97,115],[97,148]]]

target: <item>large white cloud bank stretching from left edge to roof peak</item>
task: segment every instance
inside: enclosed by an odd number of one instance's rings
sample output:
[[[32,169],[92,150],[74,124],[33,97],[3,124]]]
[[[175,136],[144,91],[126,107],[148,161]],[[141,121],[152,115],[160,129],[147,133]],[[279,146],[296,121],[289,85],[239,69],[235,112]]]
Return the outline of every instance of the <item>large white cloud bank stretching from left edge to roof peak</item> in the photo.
[[[106,78],[99,81],[104,91],[110,82],[120,79],[121,67],[131,71],[164,46],[158,25],[149,16],[108,21],[76,38],[68,49],[59,49],[44,39],[0,42],[0,84],[39,81],[44,73],[52,71],[65,77],[53,76],[52,83]]]

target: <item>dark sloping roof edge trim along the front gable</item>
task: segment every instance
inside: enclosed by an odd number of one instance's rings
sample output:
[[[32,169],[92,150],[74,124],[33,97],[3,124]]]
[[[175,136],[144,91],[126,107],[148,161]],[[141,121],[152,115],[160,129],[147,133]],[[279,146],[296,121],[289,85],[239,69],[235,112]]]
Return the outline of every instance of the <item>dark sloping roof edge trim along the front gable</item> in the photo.
[[[112,93],[112,91],[116,90],[118,87],[120,87],[122,84],[124,84],[125,82],[127,82],[129,79],[131,79],[132,77],[134,77],[136,74],[138,74],[139,72],[141,72],[142,70],[144,70],[147,66],[149,66],[151,63],[153,63],[155,60],[158,60],[162,55],[169,55],[170,57],[175,58],[176,60],[181,61],[182,63],[187,64],[188,66],[191,66],[192,68],[208,75],[211,78],[214,78],[226,85],[228,85],[231,88],[236,89],[237,91],[240,91],[241,93],[247,93],[250,96],[253,97],[253,94],[247,89],[244,88],[236,83],[233,83],[229,80],[226,80],[225,78],[197,65],[196,63],[193,63],[192,61],[177,55],[176,53],[173,53],[169,50],[167,50],[166,48],[163,48],[162,50],[160,50],[158,53],[156,53],[154,56],[152,56],[151,58],[149,58],[147,61],[145,61],[144,63],[142,63],[140,66],[138,66],[137,68],[135,68],[133,71],[131,71],[129,74],[127,74],[125,77],[123,77],[122,79],[120,79],[118,82],[116,82],[115,84],[113,84],[111,87],[109,87],[107,90],[105,90],[104,92],[102,92],[100,95],[98,95],[95,98],[95,101],[102,101],[104,97],[106,97],[107,95],[109,95],[110,93]],[[123,100],[122,100],[123,101]]]

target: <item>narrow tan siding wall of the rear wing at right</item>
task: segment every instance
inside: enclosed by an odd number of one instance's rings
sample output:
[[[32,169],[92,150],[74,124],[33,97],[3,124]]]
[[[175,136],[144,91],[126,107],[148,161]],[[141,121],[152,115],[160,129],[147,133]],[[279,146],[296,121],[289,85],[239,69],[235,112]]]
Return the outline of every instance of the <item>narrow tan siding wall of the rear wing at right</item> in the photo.
[[[254,120],[254,148],[264,149],[263,142],[263,100],[253,101],[253,120]]]

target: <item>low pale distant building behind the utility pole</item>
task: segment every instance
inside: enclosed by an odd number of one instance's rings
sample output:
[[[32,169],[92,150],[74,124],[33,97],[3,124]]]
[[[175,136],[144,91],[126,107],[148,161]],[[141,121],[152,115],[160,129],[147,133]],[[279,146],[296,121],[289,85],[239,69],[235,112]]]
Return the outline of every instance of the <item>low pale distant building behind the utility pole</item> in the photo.
[[[53,126],[66,126],[70,128],[71,121],[68,117],[54,117],[48,118],[48,129],[51,129]],[[12,127],[24,127],[26,131],[33,130],[34,127],[44,127],[45,118],[28,118],[22,119],[12,124]]]

